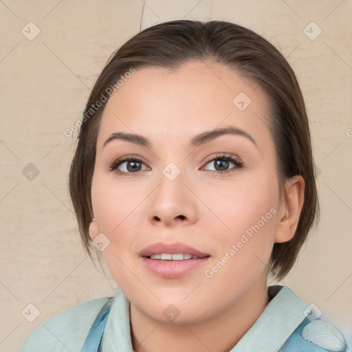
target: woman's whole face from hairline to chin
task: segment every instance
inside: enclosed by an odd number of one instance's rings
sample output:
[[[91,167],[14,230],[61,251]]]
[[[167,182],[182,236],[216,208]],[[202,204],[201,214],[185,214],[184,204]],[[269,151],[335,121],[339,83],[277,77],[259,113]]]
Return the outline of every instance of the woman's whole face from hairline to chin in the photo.
[[[266,283],[281,205],[267,117],[259,87],[198,61],[137,69],[107,102],[90,234],[141,314],[201,321]]]

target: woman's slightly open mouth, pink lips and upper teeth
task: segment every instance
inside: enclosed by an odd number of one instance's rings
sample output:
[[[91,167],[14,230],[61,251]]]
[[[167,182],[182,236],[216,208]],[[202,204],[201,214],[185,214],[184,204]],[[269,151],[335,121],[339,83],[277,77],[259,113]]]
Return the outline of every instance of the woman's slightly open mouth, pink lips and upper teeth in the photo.
[[[154,243],[140,252],[142,261],[152,274],[162,278],[181,278],[199,270],[210,254],[185,243]]]

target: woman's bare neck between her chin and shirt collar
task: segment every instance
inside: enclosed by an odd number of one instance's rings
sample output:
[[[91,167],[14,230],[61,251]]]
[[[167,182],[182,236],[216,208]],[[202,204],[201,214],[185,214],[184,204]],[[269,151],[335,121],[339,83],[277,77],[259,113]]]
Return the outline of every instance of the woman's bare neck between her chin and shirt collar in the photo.
[[[265,278],[266,279],[266,278]],[[135,352],[230,351],[269,303],[267,285],[256,283],[241,298],[208,320],[166,325],[131,305],[131,337]]]

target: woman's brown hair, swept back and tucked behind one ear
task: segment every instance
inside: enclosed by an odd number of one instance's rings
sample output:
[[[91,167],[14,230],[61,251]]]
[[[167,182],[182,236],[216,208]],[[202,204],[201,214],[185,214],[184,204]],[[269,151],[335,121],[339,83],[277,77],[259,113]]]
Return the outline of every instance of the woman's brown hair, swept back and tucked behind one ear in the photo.
[[[225,21],[180,20],[153,25],[126,41],[109,58],[87,101],[69,173],[69,192],[80,236],[91,255],[91,180],[99,123],[106,102],[94,111],[92,107],[131,67],[177,69],[190,60],[208,59],[250,78],[267,94],[280,190],[289,177],[302,175],[305,179],[305,201],[296,233],[290,241],[274,243],[272,250],[269,272],[281,280],[294,265],[309,230],[318,222],[318,193],[305,102],[296,76],[283,55],[259,34]]]

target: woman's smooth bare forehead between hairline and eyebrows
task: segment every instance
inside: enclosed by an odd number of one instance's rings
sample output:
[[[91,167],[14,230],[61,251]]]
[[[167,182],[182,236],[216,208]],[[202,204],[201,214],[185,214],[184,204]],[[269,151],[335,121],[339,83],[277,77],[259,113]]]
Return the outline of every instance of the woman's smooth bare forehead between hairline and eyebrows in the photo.
[[[220,63],[142,67],[109,98],[98,144],[117,131],[146,135],[152,143],[189,144],[193,135],[229,125],[265,140],[268,110],[254,81]]]

